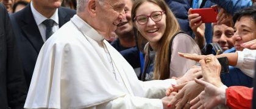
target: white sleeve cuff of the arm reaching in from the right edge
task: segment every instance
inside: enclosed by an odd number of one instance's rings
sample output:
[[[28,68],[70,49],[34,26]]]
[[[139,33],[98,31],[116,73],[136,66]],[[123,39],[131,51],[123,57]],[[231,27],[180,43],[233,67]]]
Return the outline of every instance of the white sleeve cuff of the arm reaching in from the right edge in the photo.
[[[243,71],[244,74],[254,78],[254,64],[256,60],[256,50],[244,48],[243,51],[237,51],[238,59],[236,68]]]

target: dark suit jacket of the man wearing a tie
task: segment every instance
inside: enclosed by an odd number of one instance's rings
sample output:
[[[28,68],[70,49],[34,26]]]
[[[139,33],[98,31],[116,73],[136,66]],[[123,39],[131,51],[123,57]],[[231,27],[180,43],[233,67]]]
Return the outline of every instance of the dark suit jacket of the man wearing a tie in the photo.
[[[59,27],[62,27],[63,24],[68,22],[70,18],[76,14],[76,11],[60,7],[58,13]],[[10,19],[12,21],[16,41],[18,42],[27,86],[29,86],[38,53],[44,42],[32,14],[30,4],[20,12],[11,15]]]

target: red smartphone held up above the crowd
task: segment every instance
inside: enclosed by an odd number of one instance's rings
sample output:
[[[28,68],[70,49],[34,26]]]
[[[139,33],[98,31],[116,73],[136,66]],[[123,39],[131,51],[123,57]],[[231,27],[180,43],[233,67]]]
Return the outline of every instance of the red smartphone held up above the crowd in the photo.
[[[196,8],[192,9],[191,13],[198,13],[202,17],[203,23],[217,22],[217,8]]]

